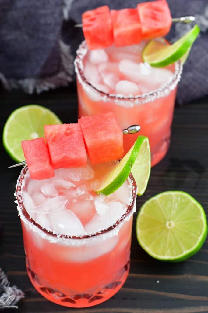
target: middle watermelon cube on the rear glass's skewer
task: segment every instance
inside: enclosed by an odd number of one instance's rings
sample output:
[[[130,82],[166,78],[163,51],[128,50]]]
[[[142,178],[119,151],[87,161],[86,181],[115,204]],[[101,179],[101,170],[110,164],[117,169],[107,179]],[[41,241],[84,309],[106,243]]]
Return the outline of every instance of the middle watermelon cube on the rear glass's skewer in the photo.
[[[111,10],[110,14],[115,46],[122,47],[140,43],[142,29],[137,9]]]

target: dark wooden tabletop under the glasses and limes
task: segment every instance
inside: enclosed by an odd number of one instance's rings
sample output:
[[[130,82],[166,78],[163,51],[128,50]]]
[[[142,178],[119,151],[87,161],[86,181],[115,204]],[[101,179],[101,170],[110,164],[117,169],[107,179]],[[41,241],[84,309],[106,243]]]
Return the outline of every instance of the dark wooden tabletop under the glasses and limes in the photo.
[[[77,120],[75,86],[41,95],[1,92],[3,128],[8,115],[17,107],[36,103],[53,110],[63,122]],[[152,168],[148,189],[138,198],[137,207],[158,192],[183,190],[195,197],[208,212],[208,99],[176,107],[172,141],[166,157]],[[14,190],[20,168],[13,164],[1,146],[1,229],[0,267],[11,284],[25,292],[18,306],[21,313],[198,313],[208,312],[208,240],[201,250],[182,263],[163,263],[148,256],[137,243],[135,218],[130,274],[113,298],[97,307],[68,309],[49,302],[31,285],[25,269],[22,229],[14,203]],[[14,312],[15,310],[5,310]]]

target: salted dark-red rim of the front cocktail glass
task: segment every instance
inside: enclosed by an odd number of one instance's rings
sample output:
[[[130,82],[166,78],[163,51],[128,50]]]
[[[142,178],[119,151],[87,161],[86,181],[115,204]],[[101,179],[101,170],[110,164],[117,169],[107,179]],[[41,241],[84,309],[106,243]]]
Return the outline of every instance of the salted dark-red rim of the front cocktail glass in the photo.
[[[61,235],[59,233],[56,233],[55,231],[50,231],[47,230],[46,228],[43,228],[40,224],[38,224],[33,218],[31,218],[31,216],[27,213],[26,208],[24,207],[23,204],[23,200],[22,200],[22,189],[24,187],[24,178],[25,175],[28,171],[28,167],[27,165],[25,167],[22,168],[20,176],[18,177],[17,180],[17,185],[16,185],[16,189],[15,189],[15,198],[16,198],[16,203],[21,211],[21,213],[23,214],[23,216],[27,219],[27,221],[32,225],[36,226],[39,230],[41,230],[42,232],[44,232],[46,235],[51,235],[54,238],[57,239],[74,239],[74,240],[80,240],[80,239],[88,239],[88,238],[94,238],[98,235],[102,235],[105,233],[109,233],[110,231],[112,231],[113,229],[115,229],[117,226],[119,226],[119,224],[128,217],[128,215],[133,211],[134,206],[135,206],[135,201],[136,201],[136,190],[137,190],[137,185],[136,182],[133,178],[132,173],[129,174],[128,178],[130,178],[131,180],[131,187],[132,187],[132,192],[131,192],[131,199],[132,202],[130,202],[128,204],[128,207],[125,211],[125,213],[119,218],[119,220],[117,220],[113,225],[109,226],[106,229],[103,229],[99,232],[96,233],[90,233],[90,234],[86,234],[86,235],[82,235],[82,236],[70,236],[70,235]],[[20,212],[19,212],[19,215]],[[21,216],[20,216],[21,217]]]

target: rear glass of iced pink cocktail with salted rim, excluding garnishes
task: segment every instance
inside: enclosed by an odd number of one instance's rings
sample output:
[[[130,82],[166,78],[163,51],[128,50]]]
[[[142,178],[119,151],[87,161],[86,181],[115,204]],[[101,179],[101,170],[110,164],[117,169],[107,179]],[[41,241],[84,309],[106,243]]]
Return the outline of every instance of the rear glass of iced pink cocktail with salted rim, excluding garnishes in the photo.
[[[75,71],[79,117],[113,111],[122,129],[139,124],[149,138],[152,166],[166,154],[182,65],[153,68],[142,61],[145,43],[89,51],[77,50]],[[125,135],[125,153],[138,134]]]

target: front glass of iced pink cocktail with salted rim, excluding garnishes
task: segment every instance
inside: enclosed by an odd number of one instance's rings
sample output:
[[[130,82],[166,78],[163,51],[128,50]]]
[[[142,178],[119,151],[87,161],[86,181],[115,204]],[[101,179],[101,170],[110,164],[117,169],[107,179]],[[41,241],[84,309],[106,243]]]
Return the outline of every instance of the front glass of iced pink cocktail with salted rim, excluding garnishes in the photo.
[[[57,304],[97,305],[128,276],[136,184],[130,175],[110,196],[93,192],[112,166],[61,168],[40,181],[25,167],[18,179],[27,272],[36,290]]]

